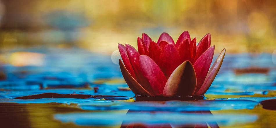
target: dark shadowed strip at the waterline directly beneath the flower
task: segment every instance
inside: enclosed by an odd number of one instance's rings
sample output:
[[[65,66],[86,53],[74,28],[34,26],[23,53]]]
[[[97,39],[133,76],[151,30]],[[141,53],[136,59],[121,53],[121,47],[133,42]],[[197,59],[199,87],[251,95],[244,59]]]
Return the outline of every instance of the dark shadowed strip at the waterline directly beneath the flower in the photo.
[[[133,97],[135,101],[169,101],[169,100],[197,100],[204,99],[204,96],[191,96],[191,97],[163,97],[163,96],[136,96]]]

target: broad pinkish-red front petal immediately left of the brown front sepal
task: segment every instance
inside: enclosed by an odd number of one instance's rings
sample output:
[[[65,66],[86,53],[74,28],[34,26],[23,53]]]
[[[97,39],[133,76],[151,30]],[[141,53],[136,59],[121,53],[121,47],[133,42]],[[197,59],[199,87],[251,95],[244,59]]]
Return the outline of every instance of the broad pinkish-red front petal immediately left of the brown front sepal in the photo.
[[[144,77],[147,78],[148,83],[150,83],[153,94],[162,95],[167,79],[161,69],[150,57],[146,55],[141,55],[139,57],[139,61],[141,70]]]

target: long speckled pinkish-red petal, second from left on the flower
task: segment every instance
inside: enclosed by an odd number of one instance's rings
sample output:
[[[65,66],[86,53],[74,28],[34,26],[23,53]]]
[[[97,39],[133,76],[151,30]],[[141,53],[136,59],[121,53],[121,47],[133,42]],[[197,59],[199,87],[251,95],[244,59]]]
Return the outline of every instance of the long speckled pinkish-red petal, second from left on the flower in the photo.
[[[140,62],[139,62],[139,56],[140,54],[138,53],[138,51],[132,47],[129,44],[126,44],[126,51],[128,53],[128,57],[129,57],[129,61],[130,64],[132,65],[132,68],[135,72],[136,78],[137,78],[137,82],[146,90],[148,90],[149,93],[151,93],[150,90],[150,86],[148,83],[146,83],[146,78],[144,77],[144,75],[141,72],[141,68],[140,68]]]

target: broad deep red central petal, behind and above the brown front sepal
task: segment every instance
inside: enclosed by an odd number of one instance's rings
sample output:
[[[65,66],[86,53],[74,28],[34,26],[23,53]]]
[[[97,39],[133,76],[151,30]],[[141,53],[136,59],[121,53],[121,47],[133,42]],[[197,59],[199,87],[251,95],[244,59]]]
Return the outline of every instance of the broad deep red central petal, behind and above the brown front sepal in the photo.
[[[167,44],[162,50],[158,63],[166,78],[170,77],[171,73],[180,63],[180,55],[174,45]]]

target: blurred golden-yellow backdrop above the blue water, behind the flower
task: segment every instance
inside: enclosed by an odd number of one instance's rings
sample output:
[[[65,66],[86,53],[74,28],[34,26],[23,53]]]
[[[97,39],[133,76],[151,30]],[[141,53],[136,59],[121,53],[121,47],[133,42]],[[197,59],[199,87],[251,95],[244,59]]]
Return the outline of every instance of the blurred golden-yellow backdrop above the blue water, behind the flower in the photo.
[[[1,0],[0,47],[73,46],[111,54],[147,33],[174,40],[183,31],[212,35],[216,53],[272,53],[275,0]],[[68,47],[66,47],[68,48]]]

